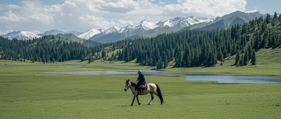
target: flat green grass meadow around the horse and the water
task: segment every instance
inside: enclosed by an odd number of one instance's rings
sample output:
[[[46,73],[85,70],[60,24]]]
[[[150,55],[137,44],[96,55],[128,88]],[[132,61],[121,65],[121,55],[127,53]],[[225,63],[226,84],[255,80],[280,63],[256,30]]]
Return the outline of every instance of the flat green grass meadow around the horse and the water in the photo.
[[[216,66],[164,72],[278,75],[280,67]],[[164,104],[155,96],[147,105],[150,95],[144,95],[140,96],[141,106],[137,102],[130,106],[133,95],[130,90],[124,92],[125,79],[136,80],[137,74],[41,73],[153,68],[124,62],[43,64],[0,60],[0,118],[281,118],[281,83],[221,84],[145,76],[147,83],[161,87]]]

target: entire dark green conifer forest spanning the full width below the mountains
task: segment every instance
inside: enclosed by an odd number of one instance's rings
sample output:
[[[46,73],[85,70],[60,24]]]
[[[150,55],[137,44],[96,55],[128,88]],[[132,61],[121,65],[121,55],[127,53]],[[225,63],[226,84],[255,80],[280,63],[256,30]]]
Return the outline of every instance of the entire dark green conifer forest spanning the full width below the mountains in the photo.
[[[55,40],[56,39],[56,40]],[[256,64],[261,48],[281,45],[281,15],[269,14],[230,29],[187,30],[161,34],[153,38],[137,38],[87,48],[80,43],[44,36],[30,41],[0,37],[1,59],[34,62],[63,62],[104,59],[136,62],[165,69],[174,61],[175,67],[214,66],[226,57],[236,55],[235,66]],[[113,52],[113,53],[112,53]],[[111,55],[109,55],[111,53]]]

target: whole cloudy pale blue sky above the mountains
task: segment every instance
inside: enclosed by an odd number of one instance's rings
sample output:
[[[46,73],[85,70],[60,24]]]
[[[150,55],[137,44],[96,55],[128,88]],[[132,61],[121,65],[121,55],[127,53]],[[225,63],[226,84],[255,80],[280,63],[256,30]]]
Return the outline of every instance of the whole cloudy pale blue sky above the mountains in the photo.
[[[280,0],[0,0],[0,35],[87,31],[175,17],[216,18],[236,10],[281,13]]]

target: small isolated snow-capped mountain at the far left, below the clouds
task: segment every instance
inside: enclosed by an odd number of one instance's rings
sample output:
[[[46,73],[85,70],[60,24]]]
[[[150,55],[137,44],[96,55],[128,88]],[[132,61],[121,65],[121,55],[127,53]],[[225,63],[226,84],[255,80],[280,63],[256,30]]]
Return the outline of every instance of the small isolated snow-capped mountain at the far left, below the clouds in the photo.
[[[17,38],[18,40],[30,40],[33,38],[39,38],[37,34],[32,33],[31,31],[11,31],[10,33],[4,35],[8,39]]]

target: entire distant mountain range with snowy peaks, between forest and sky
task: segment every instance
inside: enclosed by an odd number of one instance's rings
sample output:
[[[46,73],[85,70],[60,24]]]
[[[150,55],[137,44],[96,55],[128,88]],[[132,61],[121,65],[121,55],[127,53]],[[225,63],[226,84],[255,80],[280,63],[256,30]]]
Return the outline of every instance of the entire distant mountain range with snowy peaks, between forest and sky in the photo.
[[[150,22],[142,20],[136,25],[128,25],[126,27],[110,27],[110,29],[90,29],[86,32],[79,31],[60,31],[52,29],[45,31],[43,34],[33,34],[30,31],[12,31],[4,37],[9,39],[18,38],[20,40],[27,40],[32,38],[39,38],[45,35],[56,35],[62,38],[67,38],[70,41],[83,42],[84,39],[89,41],[96,41],[95,43],[110,43],[120,41],[125,38],[149,38],[159,34],[171,33],[176,31],[183,31],[188,29],[227,29],[235,24],[243,24],[249,22],[254,18],[259,18],[263,14],[243,13],[235,11],[228,15],[223,15],[217,18],[197,18],[189,16],[187,18],[171,18],[164,22]]]

